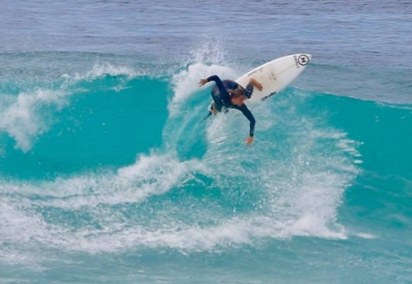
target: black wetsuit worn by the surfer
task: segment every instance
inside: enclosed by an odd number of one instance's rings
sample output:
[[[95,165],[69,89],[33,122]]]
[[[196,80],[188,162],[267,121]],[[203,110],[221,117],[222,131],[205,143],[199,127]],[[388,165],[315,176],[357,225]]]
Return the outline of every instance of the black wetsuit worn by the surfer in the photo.
[[[235,90],[236,88],[240,87],[245,91],[245,95],[247,97],[250,97],[252,96],[253,92],[253,84],[247,84],[245,89],[244,87],[242,87],[241,85],[232,80],[223,80],[222,82],[222,80],[220,80],[220,78],[216,75],[208,77],[207,82],[210,81],[214,81],[216,83],[216,86],[212,89],[212,99],[217,108],[217,111],[221,111],[222,107],[236,108],[239,111],[241,111],[250,122],[249,136],[253,136],[255,120],[252,113],[249,111],[249,108],[247,108],[245,104],[242,104],[242,106],[236,106],[235,104],[232,104],[231,95],[228,94],[227,91],[228,89]]]

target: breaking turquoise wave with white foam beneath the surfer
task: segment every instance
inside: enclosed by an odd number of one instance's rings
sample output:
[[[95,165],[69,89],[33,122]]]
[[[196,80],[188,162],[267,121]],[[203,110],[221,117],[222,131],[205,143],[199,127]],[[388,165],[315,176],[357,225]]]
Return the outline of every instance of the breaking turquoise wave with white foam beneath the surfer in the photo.
[[[96,68],[66,78],[71,85],[64,91],[39,90],[2,102],[2,131],[25,152],[33,148],[43,164],[44,157],[55,159],[45,168],[53,175],[25,178],[27,154],[19,165],[17,150],[3,145],[2,169],[11,161],[17,168],[0,180],[0,218],[6,220],[0,239],[9,244],[0,248],[2,259],[36,255],[39,247],[190,253],[294,236],[378,235],[351,227],[339,213],[348,188],[376,169],[370,162],[373,135],[380,129],[393,134],[390,125],[399,121],[408,127],[410,108],[289,87],[250,105],[256,139],[247,148],[248,124],[239,112],[202,121],[210,96],[198,79],[234,77],[235,69],[198,62],[152,77]],[[76,132],[64,132],[69,125]],[[60,152],[53,152],[55,145]],[[394,145],[386,150],[393,152]],[[55,172],[56,164],[67,168],[74,160],[91,166]]]

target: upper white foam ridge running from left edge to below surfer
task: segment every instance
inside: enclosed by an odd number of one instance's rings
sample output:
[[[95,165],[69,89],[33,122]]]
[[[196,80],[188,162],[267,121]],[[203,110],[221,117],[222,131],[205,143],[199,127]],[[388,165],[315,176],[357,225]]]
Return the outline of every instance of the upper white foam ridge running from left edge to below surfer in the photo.
[[[117,171],[84,173],[39,184],[8,184],[8,190],[39,194],[47,200],[39,206],[81,208],[99,204],[138,202],[153,194],[163,194],[179,180],[202,169],[196,160],[179,162],[172,155],[140,156],[135,164]]]

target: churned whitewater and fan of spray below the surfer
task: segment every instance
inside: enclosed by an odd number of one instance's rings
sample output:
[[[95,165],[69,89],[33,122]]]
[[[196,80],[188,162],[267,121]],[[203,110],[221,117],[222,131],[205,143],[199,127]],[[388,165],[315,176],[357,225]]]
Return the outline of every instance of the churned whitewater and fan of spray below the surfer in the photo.
[[[304,101],[305,95],[298,98]],[[353,143],[344,132],[317,129],[311,119],[298,118],[291,102],[285,97],[266,105],[287,106],[282,113],[287,118],[273,116],[263,105],[256,108],[277,122],[263,125],[254,148],[235,142],[242,134],[234,127],[236,113],[230,113],[206,125],[209,145],[200,158],[186,159],[167,149],[116,171],[3,183],[3,194],[11,196],[3,201],[13,209],[2,211],[9,220],[1,228],[8,232],[4,239],[16,246],[30,247],[36,240],[50,249],[88,253],[139,246],[221,250],[291,236],[345,239],[336,208],[357,173],[352,156],[345,155],[352,150],[341,150],[343,143]],[[290,130],[278,128],[286,121]],[[233,138],[224,138],[230,129]],[[282,140],[268,143],[275,132],[286,135],[291,147]],[[27,230],[27,239],[15,236],[31,226],[36,229]]]

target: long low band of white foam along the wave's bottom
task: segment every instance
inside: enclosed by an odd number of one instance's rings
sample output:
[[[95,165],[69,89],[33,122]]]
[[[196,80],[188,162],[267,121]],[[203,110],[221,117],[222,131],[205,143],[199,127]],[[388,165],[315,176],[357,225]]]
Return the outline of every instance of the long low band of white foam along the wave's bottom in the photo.
[[[106,215],[100,222],[106,222],[99,229],[85,226],[69,229],[62,225],[48,225],[41,215],[22,213],[22,208],[6,208],[0,211],[2,218],[8,222],[1,224],[1,238],[20,248],[42,246],[66,251],[77,250],[87,253],[116,252],[129,248],[146,246],[149,248],[175,248],[182,251],[221,250],[227,247],[252,244],[256,238],[289,238],[291,236],[320,236],[342,238],[334,232],[317,231],[317,228],[296,229],[289,222],[273,220],[265,216],[247,216],[220,220],[210,227],[199,227],[179,222],[163,224],[161,227],[146,227],[121,222],[119,216]],[[110,214],[111,211],[102,214]],[[15,264],[33,263],[32,255],[20,255],[13,251],[1,250],[1,257],[11,257]]]

